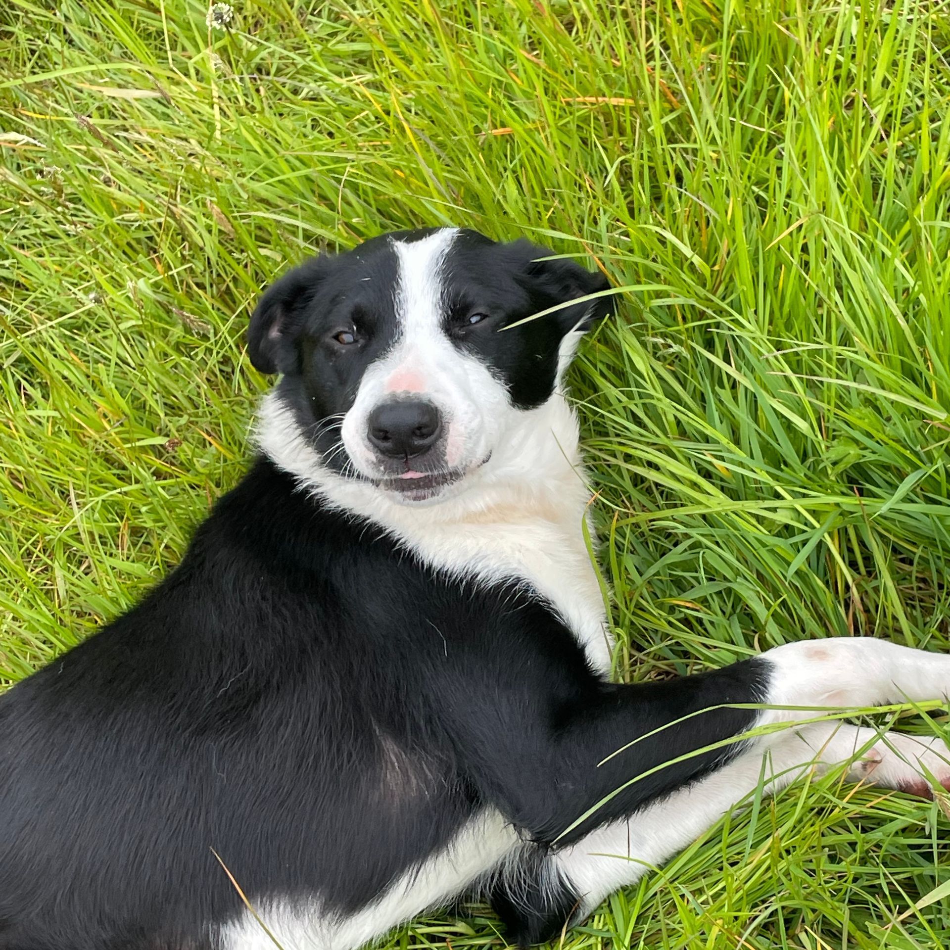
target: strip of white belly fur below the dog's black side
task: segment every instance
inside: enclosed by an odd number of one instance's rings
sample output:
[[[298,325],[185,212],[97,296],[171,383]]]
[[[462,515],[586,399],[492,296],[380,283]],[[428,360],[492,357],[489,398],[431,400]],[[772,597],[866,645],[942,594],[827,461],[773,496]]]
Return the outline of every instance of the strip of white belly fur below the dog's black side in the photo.
[[[327,913],[316,900],[255,903],[260,921],[284,950],[355,950],[403,921],[438,907],[504,860],[518,838],[495,811],[472,819],[452,843],[422,867],[404,874],[377,901],[350,917]],[[275,950],[250,912],[218,932],[222,950]]]

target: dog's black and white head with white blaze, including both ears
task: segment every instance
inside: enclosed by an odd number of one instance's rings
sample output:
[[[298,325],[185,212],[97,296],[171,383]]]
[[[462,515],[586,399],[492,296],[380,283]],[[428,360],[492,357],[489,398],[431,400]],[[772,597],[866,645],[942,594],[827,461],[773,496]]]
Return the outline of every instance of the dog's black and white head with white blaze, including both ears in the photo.
[[[284,373],[279,396],[323,466],[428,500],[487,462],[512,413],[551,398],[577,333],[610,310],[604,296],[511,327],[607,289],[548,255],[443,228],[316,257],[262,297],[251,360]]]

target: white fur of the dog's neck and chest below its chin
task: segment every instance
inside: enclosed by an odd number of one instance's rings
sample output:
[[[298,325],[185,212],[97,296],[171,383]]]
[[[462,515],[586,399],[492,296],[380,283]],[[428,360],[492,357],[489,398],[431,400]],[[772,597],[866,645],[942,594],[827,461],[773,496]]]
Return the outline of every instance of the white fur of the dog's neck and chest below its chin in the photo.
[[[526,582],[555,607],[591,666],[607,675],[611,639],[584,538],[590,491],[578,442],[577,419],[559,390],[538,409],[512,413],[489,462],[450,486],[447,497],[405,504],[324,466],[276,392],[264,398],[258,417],[261,450],[302,490],[382,528],[430,567],[476,583]]]

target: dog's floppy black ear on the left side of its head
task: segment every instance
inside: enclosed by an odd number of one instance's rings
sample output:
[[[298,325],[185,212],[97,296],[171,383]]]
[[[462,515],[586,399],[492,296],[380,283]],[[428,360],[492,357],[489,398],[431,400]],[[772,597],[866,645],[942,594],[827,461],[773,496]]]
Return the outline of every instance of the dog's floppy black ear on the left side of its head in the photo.
[[[282,276],[264,292],[247,329],[251,363],[261,372],[293,372],[296,342],[308,304],[333,267],[333,257],[314,257]]]

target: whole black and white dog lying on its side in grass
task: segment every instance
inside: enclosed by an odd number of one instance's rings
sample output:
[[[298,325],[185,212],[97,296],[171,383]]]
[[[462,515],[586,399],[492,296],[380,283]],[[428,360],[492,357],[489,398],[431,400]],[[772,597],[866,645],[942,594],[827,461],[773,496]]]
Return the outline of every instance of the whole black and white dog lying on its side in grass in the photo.
[[[399,233],[263,296],[260,458],[142,603],[0,698],[0,948],[351,950],[478,890],[528,944],[763,769],[950,785],[942,746],[802,709],[939,698],[950,657],[825,639],[610,682],[561,390],[610,295],[544,257]]]

